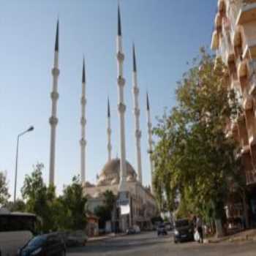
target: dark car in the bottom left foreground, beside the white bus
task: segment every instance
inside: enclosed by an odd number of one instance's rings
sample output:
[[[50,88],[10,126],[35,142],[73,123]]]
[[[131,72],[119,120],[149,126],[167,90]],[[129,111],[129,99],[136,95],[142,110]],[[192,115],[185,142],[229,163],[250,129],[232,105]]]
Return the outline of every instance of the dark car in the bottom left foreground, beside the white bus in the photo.
[[[18,256],[57,256],[66,255],[66,246],[58,233],[35,236],[23,246]]]

